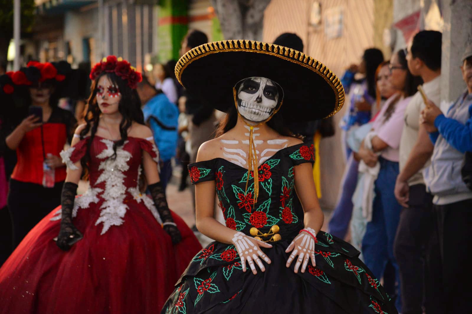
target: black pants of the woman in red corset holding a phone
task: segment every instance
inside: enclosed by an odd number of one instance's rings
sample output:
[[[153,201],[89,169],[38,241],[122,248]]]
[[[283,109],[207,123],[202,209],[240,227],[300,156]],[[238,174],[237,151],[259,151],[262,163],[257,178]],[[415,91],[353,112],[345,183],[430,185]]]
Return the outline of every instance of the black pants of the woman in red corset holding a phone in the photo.
[[[10,179],[8,210],[13,225],[13,249],[45,215],[60,205],[63,185],[64,182],[57,182],[53,188],[44,188],[41,184]]]

